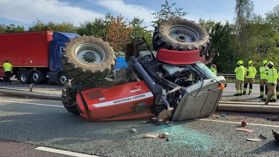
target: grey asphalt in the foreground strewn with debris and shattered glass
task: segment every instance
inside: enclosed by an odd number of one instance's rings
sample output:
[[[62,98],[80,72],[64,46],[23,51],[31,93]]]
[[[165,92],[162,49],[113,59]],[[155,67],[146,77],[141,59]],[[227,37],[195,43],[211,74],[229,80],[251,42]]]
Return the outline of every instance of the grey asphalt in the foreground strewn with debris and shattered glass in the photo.
[[[216,112],[206,119],[221,122],[187,120],[172,127],[142,124],[144,119],[87,122],[67,112],[59,100],[0,95],[0,139],[97,156],[278,156],[279,143],[272,137],[272,127],[261,126],[275,125],[279,131],[278,122],[265,120],[268,116],[276,115]],[[248,133],[236,131],[239,124],[226,123],[242,121],[259,125],[247,125],[246,129],[255,130]],[[160,132],[168,132],[170,141],[142,138]],[[246,140],[260,134],[267,140]]]

